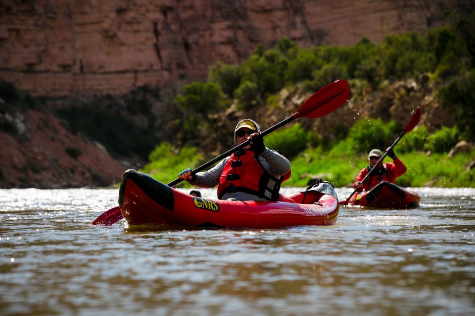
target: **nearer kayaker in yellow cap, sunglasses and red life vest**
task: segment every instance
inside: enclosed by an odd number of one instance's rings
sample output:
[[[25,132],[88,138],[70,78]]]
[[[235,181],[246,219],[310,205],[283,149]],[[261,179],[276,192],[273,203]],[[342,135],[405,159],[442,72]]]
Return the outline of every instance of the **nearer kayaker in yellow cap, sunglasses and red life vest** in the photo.
[[[259,133],[255,121],[243,119],[234,130],[234,142],[242,144]],[[262,137],[255,138],[250,145],[224,158],[208,171],[192,174],[187,168],[178,177],[200,188],[218,185],[219,199],[294,202],[279,193],[281,183],[290,177],[290,161],[267,148]]]

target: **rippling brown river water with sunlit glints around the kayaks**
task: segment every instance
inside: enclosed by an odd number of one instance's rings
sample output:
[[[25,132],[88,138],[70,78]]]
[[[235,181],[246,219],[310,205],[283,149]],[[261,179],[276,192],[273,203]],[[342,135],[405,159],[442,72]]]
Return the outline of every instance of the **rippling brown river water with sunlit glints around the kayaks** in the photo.
[[[0,315],[473,315],[475,189],[411,190],[335,226],[165,231],[89,225],[118,190],[0,190]]]

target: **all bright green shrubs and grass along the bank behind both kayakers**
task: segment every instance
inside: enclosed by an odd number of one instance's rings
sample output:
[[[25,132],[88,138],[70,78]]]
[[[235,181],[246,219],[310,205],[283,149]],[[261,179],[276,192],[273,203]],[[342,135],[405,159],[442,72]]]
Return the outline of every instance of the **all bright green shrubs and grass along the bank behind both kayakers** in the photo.
[[[287,157],[293,157],[292,176],[284,183],[287,187],[305,187],[312,178],[323,178],[337,187],[350,186],[359,171],[368,165],[368,152],[373,148],[384,150],[396,139],[395,123],[383,124],[380,119],[360,119],[350,128],[346,138],[330,146],[324,142],[308,147],[312,133],[306,133],[299,124],[275,131],[265,137],[266,146],[281,149]],[[402,129],[398,129],[398,133]],[[407,133],[394,151],[407,166],[408,171],[396,179],[401,186],[422,187],[475,187],[475,168],[469,165],[475,160],[475,151],[449,158],[447,151],[459,139],[457,128],[443,128],[427,135],[421,126]],[[455,138],[454,138],[455,137]],[[362,144],[362,146],[357,146]],[[437,152],[434,148],[443,148]],[[295,156],[296,155],[296,156]],[[200,165],[203,157],[195,148],[184,147],[175,152],[169,143],[162,143],[150,154],[150,164],[142,171],[161,181],[172,181],[178,173]],[[206,159],[205,159],[206,160]],[[384,162],[391,161],[385,158]],[[187,183],[181,186],[190,187]]]

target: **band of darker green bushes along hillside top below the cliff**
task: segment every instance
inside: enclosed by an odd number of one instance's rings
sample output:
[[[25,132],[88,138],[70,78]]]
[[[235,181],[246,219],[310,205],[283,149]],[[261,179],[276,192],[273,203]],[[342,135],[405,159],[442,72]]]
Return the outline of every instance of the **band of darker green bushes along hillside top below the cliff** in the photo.
[[[216,109],[215,104],[226,103],[225,96],[228,104],[235,102],[238,110],[251,113],[269,106],[266,102],[275,104],[273,96],[284,87],[299,86],[314,92],[344,78],[350,82],[353,95],[361,98],[366,86],[378,89],[395,80],[427,78],[428,83],[442,86],[440,102],[456,114],[462,137],[475,140],[475,13],[452,13],[448,20],[446,27],[426,34],[390,35],[380,43],[364,38],[348,47],[321,45],[307,49],[283,38],[270,49],[259,46],[242,64],[218,62],[211,66],[207,84],[213,84],[213,94],[204,98],[202,91],[192,88],[197,85],[193,82],[185,86],[184,95],[176,101],[178,105],[183,98],[195,101],[187,103],[186,121],[190,112],[209,117],[199,100],[206,100],[211,109]],[[183,141],[192,143],[195,136],[186,134]]]

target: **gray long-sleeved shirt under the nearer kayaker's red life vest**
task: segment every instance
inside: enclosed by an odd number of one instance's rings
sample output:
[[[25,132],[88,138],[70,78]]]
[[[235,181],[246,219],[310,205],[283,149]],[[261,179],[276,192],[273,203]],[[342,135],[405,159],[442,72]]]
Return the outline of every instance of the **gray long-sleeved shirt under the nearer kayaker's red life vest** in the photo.
[[[213,168],[205,172],[198,172],[194,175],[190,184],[200,188],[214,188],[219,184],[219,178],[223,173],[224,166],[230,157],[226,157]],[[275,178],[280,178],[290,171],[290,161],[278,152],[266,148],[259,156],[264,169]],[[266,199],[244,192],[226,193],[223,199],[236,198],[239,201],[265,201]]]

